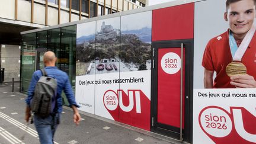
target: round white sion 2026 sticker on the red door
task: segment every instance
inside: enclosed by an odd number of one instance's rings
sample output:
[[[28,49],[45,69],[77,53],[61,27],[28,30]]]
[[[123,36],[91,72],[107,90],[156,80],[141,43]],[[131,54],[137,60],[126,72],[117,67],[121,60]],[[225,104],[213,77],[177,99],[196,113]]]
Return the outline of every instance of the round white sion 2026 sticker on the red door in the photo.
[[[166,53],[161,59],[161,67],[164,72],[174,74],[180,71],[181,58],[176,53]]]

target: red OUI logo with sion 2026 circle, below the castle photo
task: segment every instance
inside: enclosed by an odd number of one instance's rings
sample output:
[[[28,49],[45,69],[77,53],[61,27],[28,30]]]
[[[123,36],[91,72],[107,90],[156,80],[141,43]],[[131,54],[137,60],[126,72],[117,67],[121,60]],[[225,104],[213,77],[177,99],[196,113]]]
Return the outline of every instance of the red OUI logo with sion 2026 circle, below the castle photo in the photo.
[[[114,120],[150,130],[151,101],[141,89],[108,90],[103,103]]]

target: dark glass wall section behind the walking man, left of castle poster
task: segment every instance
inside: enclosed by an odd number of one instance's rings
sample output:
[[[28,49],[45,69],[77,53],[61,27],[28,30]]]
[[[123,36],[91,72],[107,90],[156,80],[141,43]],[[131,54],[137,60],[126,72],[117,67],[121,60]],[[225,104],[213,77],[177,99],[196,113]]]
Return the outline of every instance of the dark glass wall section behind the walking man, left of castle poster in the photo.
[[[56,66],[68,73],[75,91],[76,25],[22,35],[21,92],[27,93],[33,72],[44,67],[43,53],[56,53]],[[66,97],[63,104],[68,105]]]

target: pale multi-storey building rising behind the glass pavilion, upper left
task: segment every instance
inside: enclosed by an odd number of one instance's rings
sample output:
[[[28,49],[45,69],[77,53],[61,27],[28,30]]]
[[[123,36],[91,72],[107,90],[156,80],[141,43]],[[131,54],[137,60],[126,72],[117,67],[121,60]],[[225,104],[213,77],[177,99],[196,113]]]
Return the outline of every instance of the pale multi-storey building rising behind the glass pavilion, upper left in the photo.
[[[145,7],[145,3],[145,0],[0,0],[0,44],[3,44],[0,53],[2,50],[7,52],[8,47],[16,47],[20,51],[21,31],[128,11]],[[16,54],[11,57],[19,58],[20,53]],[[8,60],[8,53],[3,55],[0,55],[0,68],[13,63],[20,65],[18,60]],[[5,68],[5,82],[11,79],[7,78],[9,76],[19,81],[19,69]]]

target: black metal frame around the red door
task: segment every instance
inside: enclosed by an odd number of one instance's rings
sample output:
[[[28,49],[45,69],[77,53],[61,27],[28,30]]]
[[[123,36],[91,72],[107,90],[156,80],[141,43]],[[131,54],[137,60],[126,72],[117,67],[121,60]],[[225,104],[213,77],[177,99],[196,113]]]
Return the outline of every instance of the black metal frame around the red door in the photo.
[[[182,47],[181,43],[183,43],[183,48],[185,48],[185,110],[184,110],[184,129],[181,127],[173,127],[168,126],[166,124],[157,123],[157,79],[158,79],[158,47]],[[180,141],[192,142],[192,124],[193,124],[193,39],[187,40],[169,40],[169,41],[153,41],[152,42],[152,73],[151,73],[151,131],[156,133],[162,133],[163,135],[171,136]],[[183,57],[183,56],[182,56]],[[183,59],[183,58],[181,58]],[[183,65],[183,64],[182,64]],[[182,67],[182,66],[181,66]],[[181,70],[183,71],[183,70]],[[182,76],[182,75],[181,75]],[[183,81],[183,79],[181,79]],[[181,85],[183,85],[181,83]],[[182,89],[181,89],[182,91]],[[181,92],[182,95],[182,92]],[[183,103],[181,99],[180,103]],[[182,105],[181,105],[182,106]],[[181,107],[181,123],[182,124],[182,110]],[[161,127],[165,127],[166,129],[171,129],[172,131],[162,129]]]

